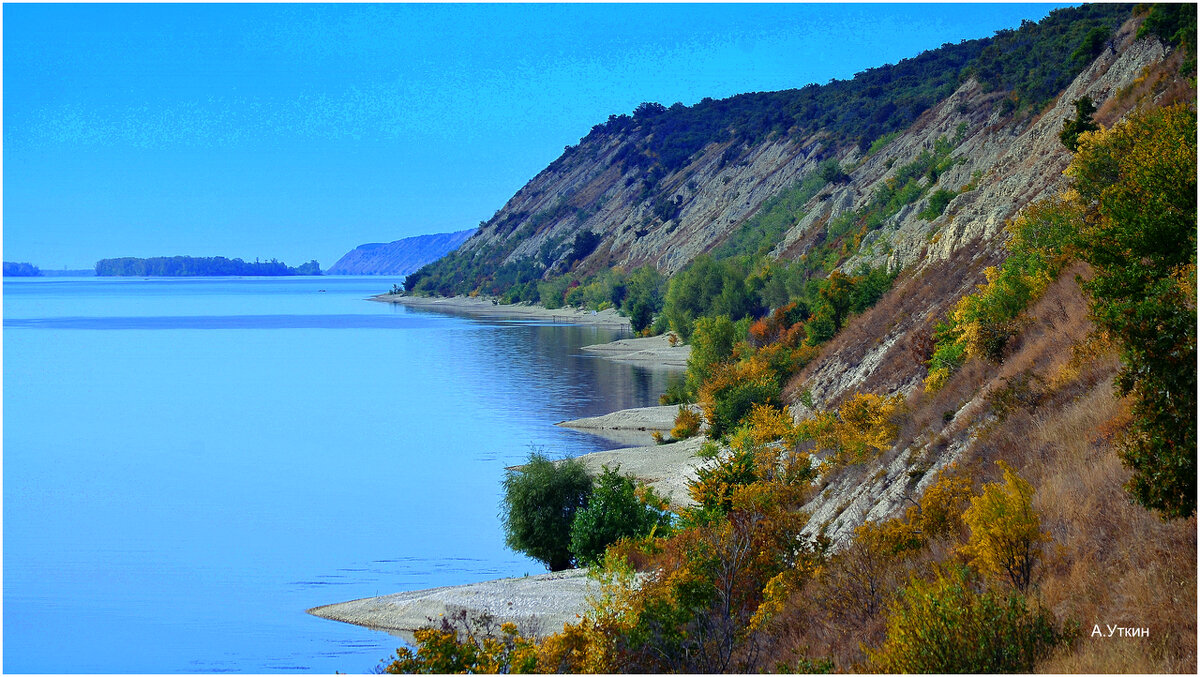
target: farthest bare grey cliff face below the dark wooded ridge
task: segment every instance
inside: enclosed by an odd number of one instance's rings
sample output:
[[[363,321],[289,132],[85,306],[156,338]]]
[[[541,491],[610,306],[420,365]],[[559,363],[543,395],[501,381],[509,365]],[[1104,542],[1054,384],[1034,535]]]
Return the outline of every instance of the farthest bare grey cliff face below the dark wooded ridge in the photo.
[[[623,173],[616,161],[623,145],[635,140],[636,133],[605,134],[564,155],[521,188],[463,251],[503,244],[520,234],[520,244],[504,263],[539,258],[544,247],[558,247],[558,256],[546,260],[553,265],[566,253],[563,242],[590,230],[600,235],[600,245],[581,264],[581,271],[649,263],[670,275],[721,242],[764,200],[833,156],[820,136],[743,149],[733,162],[727,157],[737,142],[712,144],[658,182],[655,199],[674,204],[677,211],[664,220],[655,214],[655,202],[644,196],[640,173]]]

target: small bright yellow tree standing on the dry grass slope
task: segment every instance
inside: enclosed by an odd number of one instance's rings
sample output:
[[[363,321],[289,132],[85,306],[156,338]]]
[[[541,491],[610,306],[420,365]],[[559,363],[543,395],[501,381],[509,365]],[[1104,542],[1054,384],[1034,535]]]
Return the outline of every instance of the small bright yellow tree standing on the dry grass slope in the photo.
[[[1008,463],[996,465],[1004,471],[1003,481],[984,485],[983,493],[972,498],[962,513],[971,529],[962,552],[980,571],[1007,577],[1013,587],[1025,591],[1033,580],[1042,544],[1050,535],[1042,531],[1042,520],[1033,509],[1033,486]]]

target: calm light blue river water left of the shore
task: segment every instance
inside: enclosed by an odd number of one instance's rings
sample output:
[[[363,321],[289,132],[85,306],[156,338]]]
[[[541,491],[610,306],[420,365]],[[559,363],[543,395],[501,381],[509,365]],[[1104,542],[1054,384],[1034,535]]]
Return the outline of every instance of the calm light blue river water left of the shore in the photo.
[[[504,467],[674,376],[398,281],[5,280],[4,671],[367,672],[398,641],[305,609],[544,571]]]

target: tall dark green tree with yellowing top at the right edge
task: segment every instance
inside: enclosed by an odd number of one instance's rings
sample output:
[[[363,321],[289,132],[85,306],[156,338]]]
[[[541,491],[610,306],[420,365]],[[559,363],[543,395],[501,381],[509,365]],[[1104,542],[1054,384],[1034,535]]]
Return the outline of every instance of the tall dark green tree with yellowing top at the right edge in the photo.
[[[1164,517],[1196,509],[1196,114],[1174,106],[1084,134],[1068,168],[1092,320],[1121,355],[1128,491]]]

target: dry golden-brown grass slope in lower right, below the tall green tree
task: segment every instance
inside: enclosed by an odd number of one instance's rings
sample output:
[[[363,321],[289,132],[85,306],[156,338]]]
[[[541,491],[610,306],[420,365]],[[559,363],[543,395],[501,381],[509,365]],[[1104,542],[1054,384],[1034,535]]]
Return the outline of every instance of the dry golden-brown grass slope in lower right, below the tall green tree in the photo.
[[[1072,364],[1072,348],[1091,330],[1076,272],[1086,270],[1068,270],[1031,308],[1021,340],[985,387],[1033,373],[1044,397],[992,425],[960,465],[989,481],[994,461],[1004,459],[1036,487],[1034,507],[1054,539],[1037,594],[1082,630],[1042,671],[1195,672],[1196,521],[1164,522],[1124,491],[1129,472],[1114,447],[1129,420],[1128,402],[1112,390],[1118,364],[1111,354]],[[1092,636],[1096,625],[1105,636]],[[1150,636],[1109,637],[1110,625],[1148,628]]]

